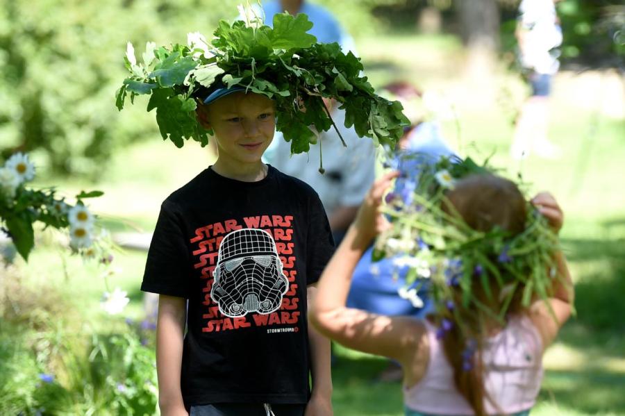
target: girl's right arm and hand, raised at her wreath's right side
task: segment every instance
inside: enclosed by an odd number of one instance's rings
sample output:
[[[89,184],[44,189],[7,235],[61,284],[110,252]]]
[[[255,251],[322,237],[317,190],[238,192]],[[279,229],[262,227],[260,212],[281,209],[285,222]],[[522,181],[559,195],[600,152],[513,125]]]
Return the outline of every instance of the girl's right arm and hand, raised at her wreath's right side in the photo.
[[[556,199],[551,194],[542,192],[534,197],[532,203],[542,215],[547,217],[551,228],[558,233],[564,223],[564,215]],[[549,306],[542,299],[535,301],[530,308],[530,317],[540,332],[544,347],[553,342],[560,327],[571,316],[575,295],[573,281],[564,254],[559,251],[555,254],[555,260],[557,278],[553,278],[553,288],[549,298],[551,310],[549,310]]]

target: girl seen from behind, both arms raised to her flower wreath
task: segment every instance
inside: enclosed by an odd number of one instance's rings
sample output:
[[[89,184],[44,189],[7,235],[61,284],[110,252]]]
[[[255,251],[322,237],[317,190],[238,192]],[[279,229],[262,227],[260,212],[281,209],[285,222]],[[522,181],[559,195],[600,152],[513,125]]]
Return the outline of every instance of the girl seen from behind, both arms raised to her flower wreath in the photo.
[[[528,415],[540,390],[542,353],[572,311],[572,283],[562,253],[555,254],[554,271],[560,278],[552,279],[557,283],[553,283],[548,301],[535,300],[523,308],[523,282],[519,281],[506,324],[490,318],[485,310],[466,310],[460,301],[460,287],[452,288],[458,296],[447,306],[456,308],[455,313],[444,318],[440,313],[423,320],[389,317],[345,306],[356,263],[376,233],[389,226],[379,208],[385,190],[397,176],[398,172],[383,176],[367,194],[356,221],[322,273],[310,322],[346,347],[401,363],[407,416]],[[468,176],[448,192],[447,200],[444,209],[458,213],[475,230],[488,232],[499,226],[515,234],[524,229],[526,203],[521,192],[497,176]],[[531,202],[553,230],[559,231],[562,211],[555,199],[541,193]],[[473,283],[474,296],[497,313],[501,302],[492,299],[508,294],[495,290],[493,297],[486,297],[481,293],[481,281]],[[462,317],[462,322],[455,322],[457,317]]]

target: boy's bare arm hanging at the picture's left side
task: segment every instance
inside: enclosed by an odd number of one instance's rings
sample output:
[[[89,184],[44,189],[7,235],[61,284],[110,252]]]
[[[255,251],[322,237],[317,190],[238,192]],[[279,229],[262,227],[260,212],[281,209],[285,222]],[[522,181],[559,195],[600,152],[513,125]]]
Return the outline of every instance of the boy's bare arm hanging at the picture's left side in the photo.
[[[158,297],[156,372],[158,406],[163,416],[188,416],[180,388],[186,306],[181,297]]]

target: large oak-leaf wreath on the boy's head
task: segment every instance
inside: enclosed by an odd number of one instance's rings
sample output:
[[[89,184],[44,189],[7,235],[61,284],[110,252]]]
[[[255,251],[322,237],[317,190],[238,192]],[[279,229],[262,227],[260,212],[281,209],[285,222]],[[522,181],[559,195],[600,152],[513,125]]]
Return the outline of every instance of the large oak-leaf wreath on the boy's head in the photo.
[[[292,153],[308,151],[317,141],[311,128],[336,129],[322,98],[338,101],[345,126],[353,126],[358,136],[394,147],[409,125],[401,103],[375,94],[361,76],[360,58],[343,53],[337,43],[316,43],[307,33],[312,27],[304,14],[275,15],[273,28],[260,19],[222,20],[210,44],[199,33],[190,33],[187,45],[157,48],[148,42],[142,64],[128,42],[125,61],[131,76],[117,91],[117,108],[122,110],[128,94],[131,103],[137,95],[150,95],[147,110],[156,108],[163,140],[183,147],[193,139],[205,146],[209,132],[195,117],[194,94],[215,83],[239,85],[274,99],[276,129],[291,142]]]

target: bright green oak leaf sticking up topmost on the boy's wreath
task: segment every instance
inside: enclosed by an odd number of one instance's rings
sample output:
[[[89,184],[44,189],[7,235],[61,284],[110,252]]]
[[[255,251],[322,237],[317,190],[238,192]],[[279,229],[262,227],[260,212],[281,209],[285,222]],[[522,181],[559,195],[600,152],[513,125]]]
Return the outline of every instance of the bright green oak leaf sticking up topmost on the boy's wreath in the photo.
[[[308,16],[300,13],[296,17],[288,13],[274,15],[274,30],[268,34],[274,49],[304,49],[317,42],[315,36],[306,33],[313,28]]]

